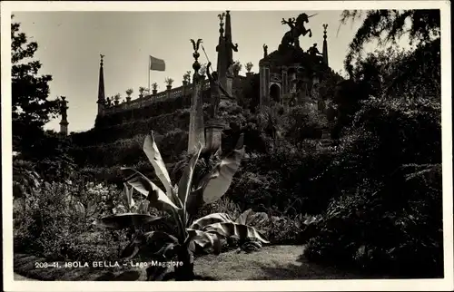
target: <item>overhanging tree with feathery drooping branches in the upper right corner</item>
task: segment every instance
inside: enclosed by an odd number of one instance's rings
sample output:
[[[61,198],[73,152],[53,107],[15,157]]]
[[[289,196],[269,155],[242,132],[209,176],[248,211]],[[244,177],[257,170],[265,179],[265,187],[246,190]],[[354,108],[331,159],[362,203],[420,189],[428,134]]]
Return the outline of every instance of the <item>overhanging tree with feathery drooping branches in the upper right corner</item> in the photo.
[[[337,136],[349,126],[360,101],[370,95],[414,99],[440,98],[439,10],[345,10],[341,24],[362,19],[344,61],[350,80],[341,83],[335,94]],[[397,49],[407,34],[415,50]],[[364,57],[363,47],[377,41],[380,49]],[[383,45],[394,44],[382,50]]]

